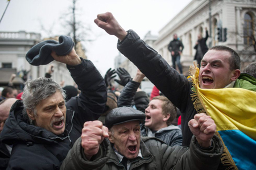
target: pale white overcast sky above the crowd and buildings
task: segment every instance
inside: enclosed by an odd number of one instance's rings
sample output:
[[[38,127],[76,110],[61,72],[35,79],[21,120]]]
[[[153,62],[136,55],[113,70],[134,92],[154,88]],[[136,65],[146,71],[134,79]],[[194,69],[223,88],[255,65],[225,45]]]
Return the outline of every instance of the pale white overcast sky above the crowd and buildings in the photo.
[[[97,14],[111,12],[125,29],[132,29],[141,38],[148,31],[158,35],[175,15],[192,0],[80,0],[77,2],[79,16],[77,20],[90,27],[90,39],[93,42],[83,43],[86,56],[93,61],[101,74],[108,68],[114,68],[114,57],[118,55],[117,38],[108,35],[98,28],[93,20]],[[7,5],[7,0],[0,0],[0,16]],[[72,0],[11,0],[0,23],[0,31],[37,32],[42,38],[49,35],[42,31],[52,30],[53,35],[66,35],[67,27],[63,26],[60,16],[68,11]],[[51,29],[52,28],[52,29]]]

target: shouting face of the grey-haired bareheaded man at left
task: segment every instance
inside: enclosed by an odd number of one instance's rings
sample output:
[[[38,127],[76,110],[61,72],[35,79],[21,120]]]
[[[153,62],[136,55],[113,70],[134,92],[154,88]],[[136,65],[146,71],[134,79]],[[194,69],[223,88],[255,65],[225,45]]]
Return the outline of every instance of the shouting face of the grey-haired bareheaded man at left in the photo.
[[[67,109],[59,91],[40,101],[36,106],[36,111],[37,116],[31,118],[35,122],[35,126],[43,127],[56,135],[64,132]]]

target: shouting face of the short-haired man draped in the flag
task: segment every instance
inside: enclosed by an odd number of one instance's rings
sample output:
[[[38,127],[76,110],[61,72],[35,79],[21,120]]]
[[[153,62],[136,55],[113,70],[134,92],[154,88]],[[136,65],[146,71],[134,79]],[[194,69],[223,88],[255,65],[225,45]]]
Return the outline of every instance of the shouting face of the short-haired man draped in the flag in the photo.
[[[199,84],[202,89],[225,88],[236,80],[234,72],[230,71],[230,53],[227,51],[210,50],[205,53],[199,72]]]

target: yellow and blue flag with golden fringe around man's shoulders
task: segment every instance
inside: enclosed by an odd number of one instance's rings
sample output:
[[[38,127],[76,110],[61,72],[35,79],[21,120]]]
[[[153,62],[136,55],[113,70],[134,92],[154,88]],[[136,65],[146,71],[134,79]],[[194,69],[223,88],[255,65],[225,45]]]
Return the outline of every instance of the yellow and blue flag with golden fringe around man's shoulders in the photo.
[[[198,68],[191,68],[196,110],[216,123],[224,144],[222,163],[234,169],[256,169],[256,92],[242,88],[201,89]]]

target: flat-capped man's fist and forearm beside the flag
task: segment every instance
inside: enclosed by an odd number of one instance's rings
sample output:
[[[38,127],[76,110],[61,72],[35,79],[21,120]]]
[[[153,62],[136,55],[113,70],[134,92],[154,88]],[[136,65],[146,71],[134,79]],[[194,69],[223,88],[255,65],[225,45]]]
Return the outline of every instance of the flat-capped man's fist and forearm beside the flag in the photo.
[[[162,169],[217,169],[223,145],[221,140],[214,136],[214,121],[205,114],[197,114],[195,119],[189,122],[189,127],[194,134],[189,149],[167,148],[162,159]]]

